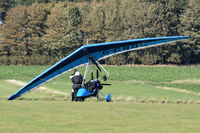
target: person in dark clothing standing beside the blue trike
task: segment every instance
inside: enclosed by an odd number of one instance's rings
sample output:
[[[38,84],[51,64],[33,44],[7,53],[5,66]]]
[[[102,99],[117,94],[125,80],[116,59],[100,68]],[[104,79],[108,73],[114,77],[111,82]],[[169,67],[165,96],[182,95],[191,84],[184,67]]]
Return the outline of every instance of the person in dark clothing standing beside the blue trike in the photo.
[[[78,90],[82,87],[82,82],[83,82],[83,76],[80,74],[80,72],[75,69],[74,73],[70,76],[70,79],[73,83],[72,85],[72,99],[71,101],[80,101],[79,98],[77,98],[77,92]]]

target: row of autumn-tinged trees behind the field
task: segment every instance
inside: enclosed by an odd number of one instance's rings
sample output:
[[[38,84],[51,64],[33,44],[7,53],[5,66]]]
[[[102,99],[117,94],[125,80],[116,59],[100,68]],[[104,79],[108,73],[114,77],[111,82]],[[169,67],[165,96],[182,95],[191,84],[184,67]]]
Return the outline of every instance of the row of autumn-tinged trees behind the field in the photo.
[[[127,52],[106,64],[199,64],[199,0],[4,0],[0,64],[53,64],[81,45],[159,36],[187,41]]]

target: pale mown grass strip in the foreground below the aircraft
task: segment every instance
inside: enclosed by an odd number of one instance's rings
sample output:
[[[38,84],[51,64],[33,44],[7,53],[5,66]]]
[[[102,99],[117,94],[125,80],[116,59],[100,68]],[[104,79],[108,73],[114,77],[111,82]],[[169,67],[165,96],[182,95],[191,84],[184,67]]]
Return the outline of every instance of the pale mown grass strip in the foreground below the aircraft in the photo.
[[[2,133],[198,133],[192,104],[0,102]]]

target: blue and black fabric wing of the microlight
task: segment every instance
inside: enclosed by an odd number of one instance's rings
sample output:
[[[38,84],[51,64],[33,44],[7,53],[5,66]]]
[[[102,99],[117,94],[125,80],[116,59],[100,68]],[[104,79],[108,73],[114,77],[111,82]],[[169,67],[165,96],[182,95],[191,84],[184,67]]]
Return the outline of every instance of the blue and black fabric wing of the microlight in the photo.
[[[156,38],[144,38],[134,39],[117,42],[107,42],[99,44],[85,45],[66,56],[55,65],[38,75],[31,80],[28,84],[18,90],[15,94],[10,96],[8,100],[16,99],[21,95],[31,91],[34,88],[45,84],[47,81],[54,79],[55,77],[78,67],[88,62],[89,57],[93,57],[95,60],[103,59],[108,56],[123,53],[132,50],[138,50],[142,48],[153,47],[173,41],[187,39],[188,36],[172,36],[172,37],[156,37]]]

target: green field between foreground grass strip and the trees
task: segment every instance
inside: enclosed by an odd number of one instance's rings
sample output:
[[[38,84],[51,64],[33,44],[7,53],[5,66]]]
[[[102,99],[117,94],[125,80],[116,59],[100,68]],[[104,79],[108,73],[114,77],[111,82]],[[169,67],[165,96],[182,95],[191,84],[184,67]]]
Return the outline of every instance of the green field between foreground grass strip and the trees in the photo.
[[[27,83],[47,69],[48,66],[1,66],[1,99],[6,99],[21,86],[8,80]],[[110,72],[112,86],[106,86],[103,92],[112,92],[114,101],[141,102],[198,102],[200,100],[200,68],[191,67],[112,67]],[[82,73],[84,67],[79,69]],[[59,95],[50,91],[33,91],[22,96],[23,99],[69,100],[71,81],[68,72],[45,85],[53,91],[66,93]]]

